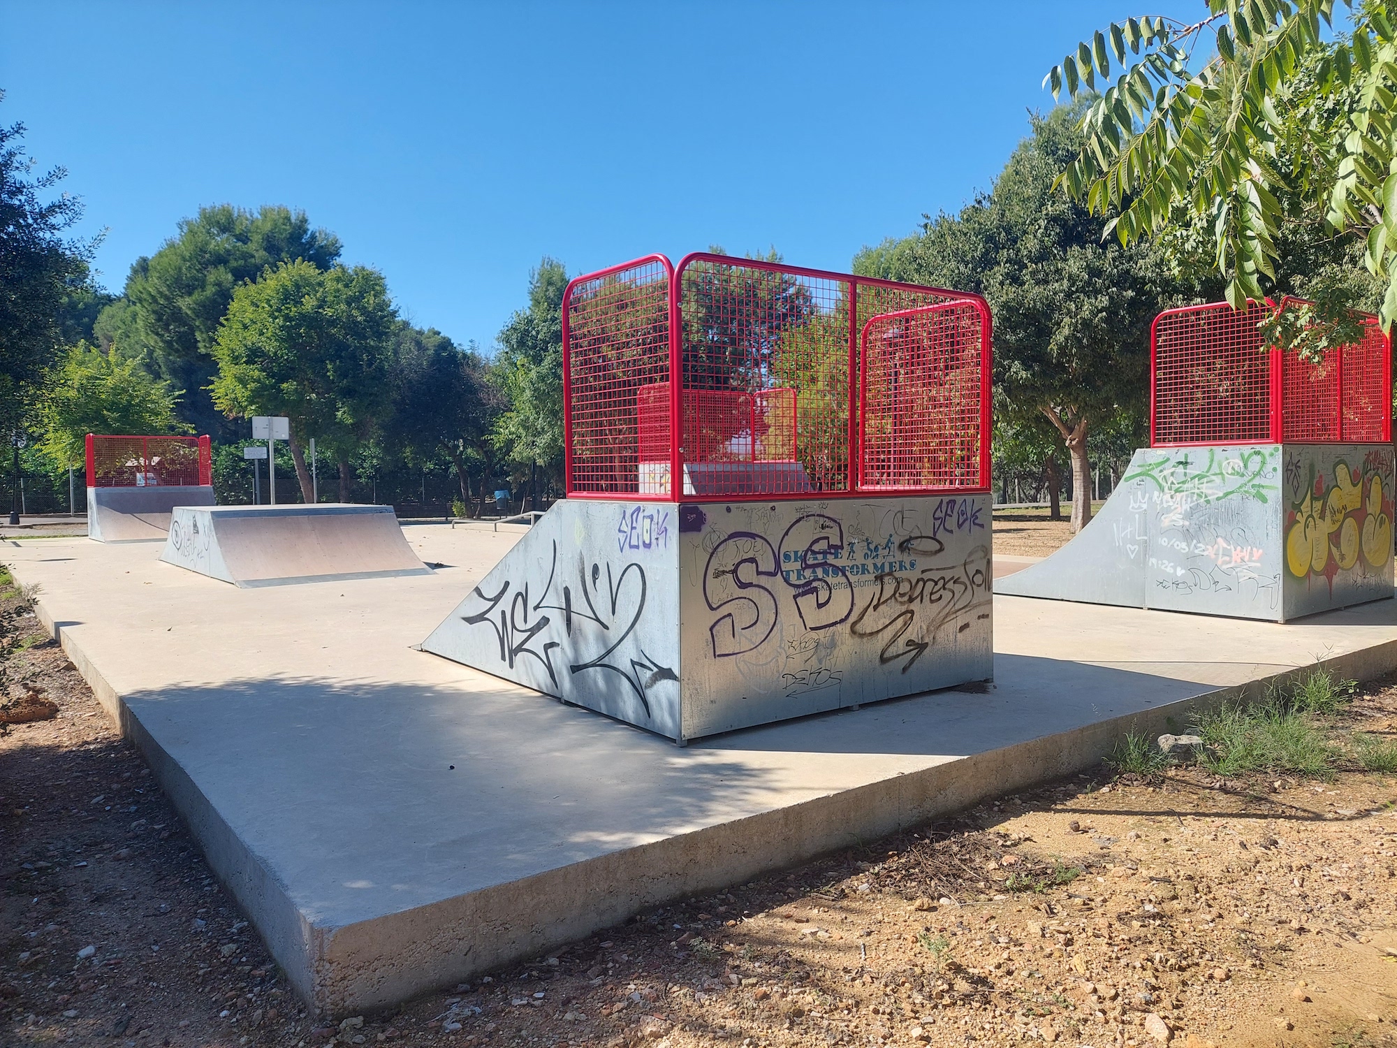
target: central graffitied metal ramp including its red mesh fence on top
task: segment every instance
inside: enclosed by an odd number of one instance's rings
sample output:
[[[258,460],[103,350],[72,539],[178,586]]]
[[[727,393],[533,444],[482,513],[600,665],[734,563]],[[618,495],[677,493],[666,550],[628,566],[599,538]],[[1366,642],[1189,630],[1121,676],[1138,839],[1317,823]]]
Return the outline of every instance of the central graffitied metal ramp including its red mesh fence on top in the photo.
[[[655,254],[563,344],[567,499],[426,651],[678,742],[992,676],[982,299]]]

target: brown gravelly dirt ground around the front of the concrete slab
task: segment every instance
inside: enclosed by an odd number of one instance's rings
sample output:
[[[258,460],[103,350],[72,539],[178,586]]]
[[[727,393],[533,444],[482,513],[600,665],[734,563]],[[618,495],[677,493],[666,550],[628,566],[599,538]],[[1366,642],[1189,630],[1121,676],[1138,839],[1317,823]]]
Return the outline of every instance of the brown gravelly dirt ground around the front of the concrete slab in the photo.
[[[330,1024],[13,591],[0,632],[0,713],[57,706],[0,728],[4,1045],[1397,1044],[1397,781],[1105,767]]]

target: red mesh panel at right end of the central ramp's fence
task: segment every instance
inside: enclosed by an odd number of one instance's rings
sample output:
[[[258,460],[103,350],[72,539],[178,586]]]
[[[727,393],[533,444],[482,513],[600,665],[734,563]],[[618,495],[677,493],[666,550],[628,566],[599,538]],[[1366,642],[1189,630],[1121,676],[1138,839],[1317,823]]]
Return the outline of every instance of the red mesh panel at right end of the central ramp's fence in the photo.
[[[863,326],[859,488],[979,485],[983,320],[961,300]]]

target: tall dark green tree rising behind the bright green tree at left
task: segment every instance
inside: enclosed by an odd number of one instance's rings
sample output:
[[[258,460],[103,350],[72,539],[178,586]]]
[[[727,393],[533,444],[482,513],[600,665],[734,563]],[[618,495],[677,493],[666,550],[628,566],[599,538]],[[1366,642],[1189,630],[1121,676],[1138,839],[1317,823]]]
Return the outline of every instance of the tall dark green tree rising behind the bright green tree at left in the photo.
[[[281,263],[326,271],[338,257],[339,240],[312,229],[303,211],[203,207],[154,256],[137,259],[123,299],[98,317],[96,335],[144,354],[154,374],[189,391],[183,416],[198,432],[217,432],[221,418],[208,390],[217,370],[212,351],[235,291]]]

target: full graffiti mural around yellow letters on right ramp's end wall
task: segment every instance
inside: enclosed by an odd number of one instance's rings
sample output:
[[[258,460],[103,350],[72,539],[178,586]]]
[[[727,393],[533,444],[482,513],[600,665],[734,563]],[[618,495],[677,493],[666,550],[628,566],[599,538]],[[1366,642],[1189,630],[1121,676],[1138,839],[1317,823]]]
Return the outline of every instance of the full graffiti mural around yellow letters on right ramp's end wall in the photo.
[[[1296,578],[1376,573],[1393,555],[1391,460],[1369,453],[1331,470],[1291,453],[1285,479],[1285,569]]]

